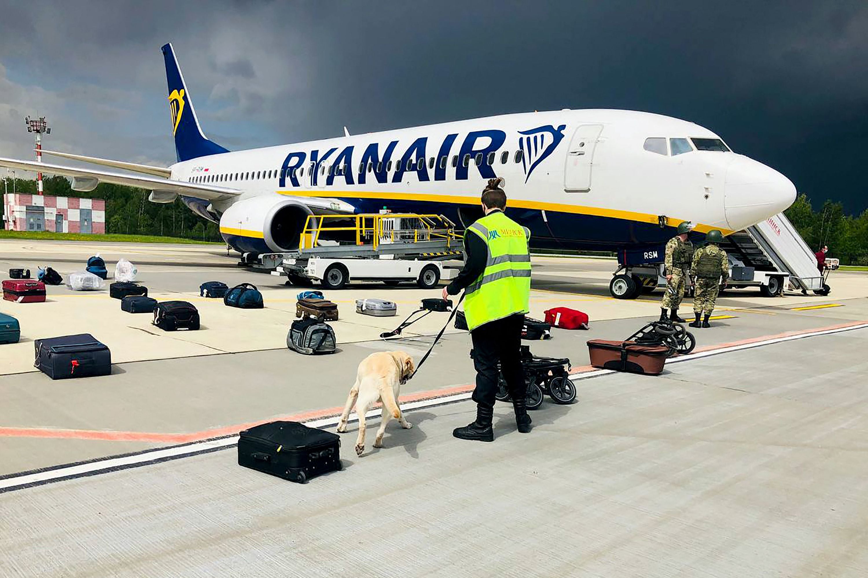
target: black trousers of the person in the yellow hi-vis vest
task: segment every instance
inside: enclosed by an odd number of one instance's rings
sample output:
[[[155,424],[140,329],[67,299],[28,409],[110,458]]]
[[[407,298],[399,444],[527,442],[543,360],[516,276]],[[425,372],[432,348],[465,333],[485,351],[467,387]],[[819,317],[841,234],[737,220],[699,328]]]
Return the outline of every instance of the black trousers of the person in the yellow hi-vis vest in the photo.
[[[479,325],[470,332],[473,340],[473,365],[477,370],[477,387],[473,401],[482,407],[493,408],[497,393],[497,362],[513,399],[524,399],[527,386],[522,371],[521,347],[524,315]]]

